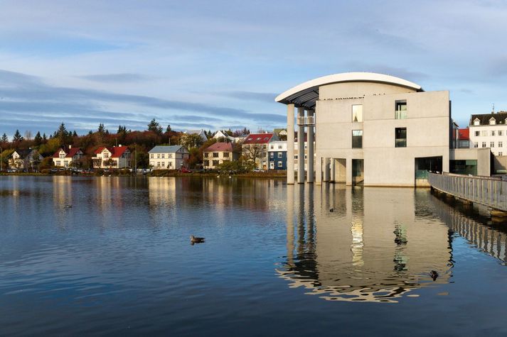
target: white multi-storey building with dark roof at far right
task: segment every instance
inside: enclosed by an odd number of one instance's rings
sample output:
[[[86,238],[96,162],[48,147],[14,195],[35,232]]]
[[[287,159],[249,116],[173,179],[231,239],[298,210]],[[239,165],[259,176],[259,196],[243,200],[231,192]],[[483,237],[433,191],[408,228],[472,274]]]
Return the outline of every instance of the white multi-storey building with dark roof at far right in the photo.
[[[493,155],[507,154],[507,111],[471,115],[469,138],[471,148],[490,148]],[[503,145],[506,146],[503,146]]]

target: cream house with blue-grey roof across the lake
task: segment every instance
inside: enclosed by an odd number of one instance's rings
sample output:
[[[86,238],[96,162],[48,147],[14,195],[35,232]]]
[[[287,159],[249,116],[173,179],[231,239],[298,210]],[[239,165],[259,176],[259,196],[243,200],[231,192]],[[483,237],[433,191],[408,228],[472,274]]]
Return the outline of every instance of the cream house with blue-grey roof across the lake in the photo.
[[[154,170],[179,170],[188,167],[190,153],[181,145],[157,145],[148,152],[149,165]]]

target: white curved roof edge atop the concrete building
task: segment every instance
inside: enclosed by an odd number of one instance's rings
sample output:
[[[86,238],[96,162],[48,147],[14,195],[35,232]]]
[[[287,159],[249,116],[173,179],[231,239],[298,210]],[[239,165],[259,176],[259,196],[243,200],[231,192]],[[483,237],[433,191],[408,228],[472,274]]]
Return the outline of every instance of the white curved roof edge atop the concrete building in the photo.
[[[285,103],[290,96],[294,96],[297,93],[308,92],[313,88],[318,88],[321,85],[340,83],[340,82],[379,82],[387,84],[395,84],[401,87],[408,87],[415,89],[418,92],[422,92],[422,87],[413,82],[407,81],[406,79],[400,79],[386,74],[378,74],[375,72],[342,72],[341,74],[332,74],[323,77],[317,77],[307,82],[301,83],[296,87],[292,87],[286,92],[279,94],[274,101]],[[288,101],[287,101],[288,103]]]

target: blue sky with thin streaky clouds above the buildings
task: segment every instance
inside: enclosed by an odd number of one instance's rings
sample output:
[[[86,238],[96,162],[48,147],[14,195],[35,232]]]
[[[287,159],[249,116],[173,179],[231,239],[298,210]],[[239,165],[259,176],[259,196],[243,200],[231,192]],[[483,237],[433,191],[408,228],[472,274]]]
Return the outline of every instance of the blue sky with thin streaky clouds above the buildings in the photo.
[[[0,1],[0,133],[284,126],[280,92],[339,72],[507,110],[506,1]]]

